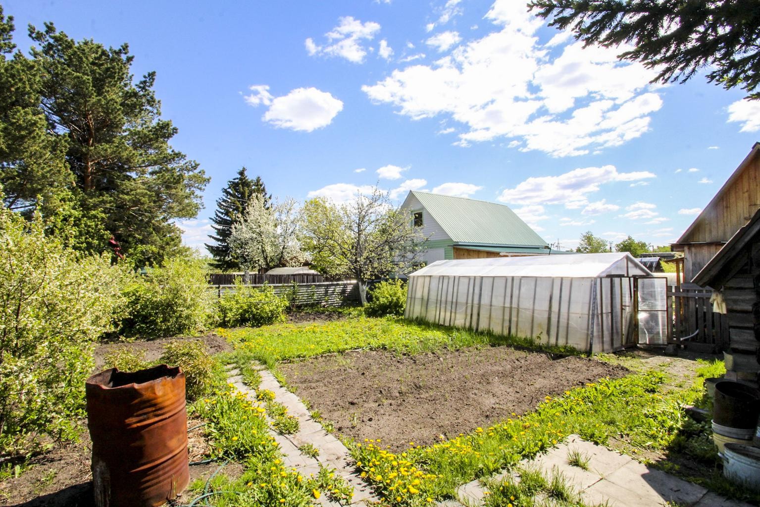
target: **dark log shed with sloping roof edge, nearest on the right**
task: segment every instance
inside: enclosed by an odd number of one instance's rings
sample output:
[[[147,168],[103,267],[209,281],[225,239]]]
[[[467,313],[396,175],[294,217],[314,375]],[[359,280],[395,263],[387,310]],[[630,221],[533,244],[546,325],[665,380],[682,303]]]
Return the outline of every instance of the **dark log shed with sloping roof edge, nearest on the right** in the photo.
[[[694,282],[710,287],[724,299],[731,348],[755,352],[760,340],[760,210],[701,269]]]

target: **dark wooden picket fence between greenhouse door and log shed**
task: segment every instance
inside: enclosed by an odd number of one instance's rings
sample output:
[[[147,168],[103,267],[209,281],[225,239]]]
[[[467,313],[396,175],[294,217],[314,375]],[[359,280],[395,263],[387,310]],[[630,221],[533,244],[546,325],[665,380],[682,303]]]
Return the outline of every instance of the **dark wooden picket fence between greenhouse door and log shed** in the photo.
[[[693,283],[668,285],[668,341],[704,343],[714,349],[728,344],[728,319],[713,311],[712,292]]]

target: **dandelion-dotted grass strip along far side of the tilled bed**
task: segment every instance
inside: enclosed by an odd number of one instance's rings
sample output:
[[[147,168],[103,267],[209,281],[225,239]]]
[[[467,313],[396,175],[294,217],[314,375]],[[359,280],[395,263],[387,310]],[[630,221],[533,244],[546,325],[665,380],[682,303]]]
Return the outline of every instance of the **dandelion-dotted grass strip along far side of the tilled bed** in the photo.
[[[397,317],[359,315],[325,323],[274,324],[258,328],[220,329],[217,333],[236,345],[239,362],[255,360],[269,368],[287,359],[352,349],[387,349],[401,354],[416,354],[467,346],[511,345],[562,355],[582,355],[572,347],[544,346],[528,338],[411,323]]]

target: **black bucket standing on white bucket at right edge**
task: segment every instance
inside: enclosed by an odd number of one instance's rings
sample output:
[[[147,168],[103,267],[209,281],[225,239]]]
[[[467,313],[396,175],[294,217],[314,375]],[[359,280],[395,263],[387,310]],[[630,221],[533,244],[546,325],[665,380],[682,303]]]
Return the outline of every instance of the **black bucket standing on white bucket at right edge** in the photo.
[[[760,415],[760,393],[755,387],[734,381],[715,384],[713,420],[729,428],[755,428]]]

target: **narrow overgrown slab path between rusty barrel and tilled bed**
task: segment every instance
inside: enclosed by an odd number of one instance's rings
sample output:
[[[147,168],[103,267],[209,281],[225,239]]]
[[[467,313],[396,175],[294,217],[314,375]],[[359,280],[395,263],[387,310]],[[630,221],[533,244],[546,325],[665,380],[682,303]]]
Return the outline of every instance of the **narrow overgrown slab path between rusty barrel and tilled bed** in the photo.
[[[312,416],[309,415],[309,410],[306,410],[306,406],[299,400],[299,397],[282,387],[268,369],[261,366],[258,368],[258,373],[261,375],[259,388],[272,391],[274,393],[274,400],[287,407],[287,412],[290,416],[298,418],[299,430],[293,435],[280,435],[274,432],[273,429],[270,429],[275,441],[280,446],[280,451],[284,454],[283,464],[287,467],[295,468],[299,471],[299,474],[305,477],[309,477],[309,474],[316,476],[319,472],[320,464],[324,467],[334,468],[337,475],[343,477],[353,486],[351,505],[378,502],[380,500],[378,496],[375,496],[364,480],[359,477],[359,474],[356,474],[354,467],[351,465],[353,460],[346,446],[333,435],[326,432],[321,424],[312,419]],[[255,401],[255,390],[243,384],[238,370],[234,368],[228,369],[227,375],[227,381],[230,384],[233,384],[238,391],[245,394],[249,400]],[[304,444],[312,444],[317,448],[319,451],[317,458],[312,458],[299,451],[298,448]],[[328,499],[327,495],[321,496],[318,502],[326,506],[337,507],[337,505],[340,505]]]

